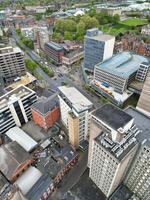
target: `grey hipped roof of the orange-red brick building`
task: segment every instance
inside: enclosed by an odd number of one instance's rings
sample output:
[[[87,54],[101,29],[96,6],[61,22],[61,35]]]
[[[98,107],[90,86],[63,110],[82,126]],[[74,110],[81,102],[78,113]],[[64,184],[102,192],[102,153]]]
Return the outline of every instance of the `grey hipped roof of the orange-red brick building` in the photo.
[[[44,97],[40,98],[36,103],[32,105],[32,109],[45,115],[58,106],[59,106],[58,97],[57,97],[57,94],[54,94],[48,98],[44,98]]]

